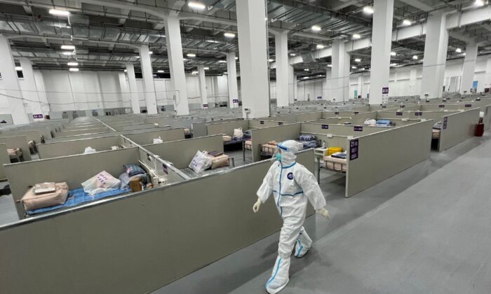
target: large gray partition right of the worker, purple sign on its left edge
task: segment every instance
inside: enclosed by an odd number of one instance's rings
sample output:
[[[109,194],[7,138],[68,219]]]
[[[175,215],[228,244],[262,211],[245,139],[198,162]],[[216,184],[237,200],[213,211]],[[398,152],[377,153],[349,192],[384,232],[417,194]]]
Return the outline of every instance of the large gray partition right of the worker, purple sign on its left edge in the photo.
[[[358,158],[348,160],[346,197],[351,197],[429,158],[433,120],[350,140]],[[349,154],[348,154],[349,155]]]

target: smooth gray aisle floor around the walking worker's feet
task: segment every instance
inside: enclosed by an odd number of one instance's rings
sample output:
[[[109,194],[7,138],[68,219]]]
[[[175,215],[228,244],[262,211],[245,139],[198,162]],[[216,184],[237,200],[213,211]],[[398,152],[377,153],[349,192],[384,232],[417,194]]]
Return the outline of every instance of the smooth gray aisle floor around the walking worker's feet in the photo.
[[[473,138],[354,197],[321,173],[331,220],[281,293],[491,293],[491,141]],[[252,203],[251,203],[252,207]],[[250,209],[245,207],[245,209]],[[154,293],[265,293],[278,234]]]

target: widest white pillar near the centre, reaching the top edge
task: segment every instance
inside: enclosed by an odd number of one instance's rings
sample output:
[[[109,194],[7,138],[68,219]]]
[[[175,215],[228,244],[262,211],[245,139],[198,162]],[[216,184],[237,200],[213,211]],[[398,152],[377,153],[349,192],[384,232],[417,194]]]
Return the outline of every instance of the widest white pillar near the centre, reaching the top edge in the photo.
[[[264,1],[236,1],[244,118],[269,116],[267,14]],[[246,113],[245,109],[249,109]]]

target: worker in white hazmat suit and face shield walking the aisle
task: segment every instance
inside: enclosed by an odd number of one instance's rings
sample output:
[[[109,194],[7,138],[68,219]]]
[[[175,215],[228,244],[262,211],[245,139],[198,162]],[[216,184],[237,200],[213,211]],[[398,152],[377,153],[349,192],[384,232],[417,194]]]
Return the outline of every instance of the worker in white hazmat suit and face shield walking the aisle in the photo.
[[[278,152],[273,158],[275,162],[257,190],[258,199],[253,207],[254,212],[259,211],[261,204],[266,202],[272,193],[278,213],[283,218],[278,257],[266,283],[266,290],[271,294],[283,290],[290,281],[288,272],[293,248],[295,247],[294,254],[297,258],[304,256],[311,248],[312,240],[303,227],[307,200],[318,214],[329,218],[329,212],[324,208],[324,196],[314,175],[303,165],[295,162],[297,152],[297,142],[293,140],[278,144]]]

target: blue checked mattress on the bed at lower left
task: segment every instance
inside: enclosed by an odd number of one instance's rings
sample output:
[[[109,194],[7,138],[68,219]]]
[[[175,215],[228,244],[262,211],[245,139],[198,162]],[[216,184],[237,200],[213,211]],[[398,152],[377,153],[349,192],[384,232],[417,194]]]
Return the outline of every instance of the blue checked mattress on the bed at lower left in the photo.
[[[111,190],[95,195],[90,195],[88,193],[83,192],[83,188],[77,188],[74,190],[70,190],[68,192],[68,197],[67,201],[64,204],[60,205],[55,205],[54,207],[43,207],[41,209],[34,209],[34,210],[29,210],[27,211],[27,214],[42,214],[43,212],[48,212],[48,211],[53,211],[56,209],[62,209],[62,208],[67,208],[67,207],[75,207],[77,205],[86,203],[86,202],[92,202],[95,200],[99,200],[105,197],[111,197],[111,196],[116,196],[120,195],[123,193],[130,192],[130,188],[124,188],[124,189],[117,189],[117,190]]]

